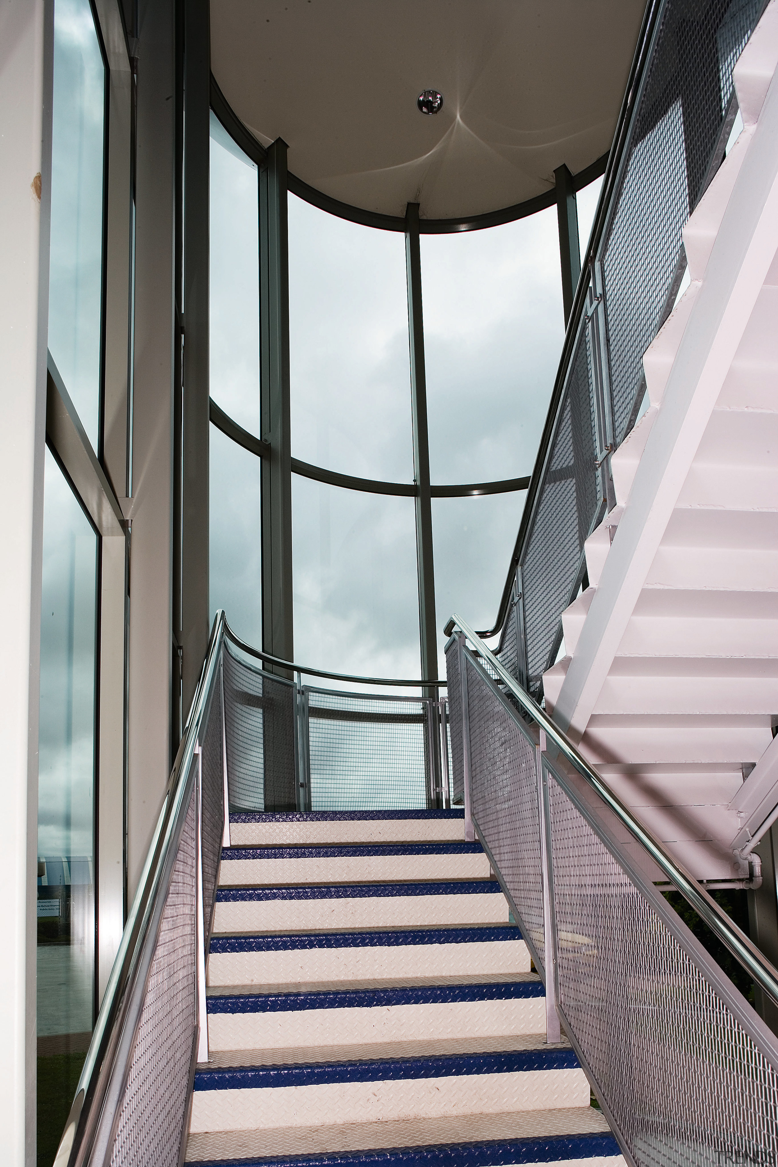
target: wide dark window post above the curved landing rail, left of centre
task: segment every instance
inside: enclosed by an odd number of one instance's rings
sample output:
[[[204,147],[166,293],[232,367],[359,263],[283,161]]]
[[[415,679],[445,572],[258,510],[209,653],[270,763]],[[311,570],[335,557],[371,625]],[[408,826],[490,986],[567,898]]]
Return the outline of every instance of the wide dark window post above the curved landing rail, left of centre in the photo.
[[[262,648],[294,659],[292,442],[289,420],[289,249],[287,144],[276,139],[259,170],[262,441]],[[283,676],[288,676],[283,672]]]

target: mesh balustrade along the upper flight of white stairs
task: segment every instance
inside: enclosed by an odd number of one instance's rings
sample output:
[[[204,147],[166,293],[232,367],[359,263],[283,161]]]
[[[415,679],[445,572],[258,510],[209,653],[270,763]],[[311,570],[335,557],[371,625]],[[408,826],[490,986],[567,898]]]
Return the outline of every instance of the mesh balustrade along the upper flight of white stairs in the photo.
[[[555,421],[523,524],[518,605],[503,620],[499,655],[534,697],[581,584],[583,541],[615,501],[610,453],[635,425],[643,355],[672,309],[686,266],[681,231],[722,160],[735,113],[733,69],[763,7],[764,0],[657,5],[637,99],[605,175]]]

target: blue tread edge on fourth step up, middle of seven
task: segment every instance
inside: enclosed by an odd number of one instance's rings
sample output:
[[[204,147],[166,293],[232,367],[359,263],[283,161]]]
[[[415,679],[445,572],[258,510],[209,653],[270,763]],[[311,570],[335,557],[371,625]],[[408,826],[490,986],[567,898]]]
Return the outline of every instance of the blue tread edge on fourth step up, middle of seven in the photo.
[[[285,952],[293,949],[394,948],[407,944],[492,944],[520,941],[514,924],[476,928],[409,928],[385,932],[303,932],[288,936],[213,936],[211,953]]]

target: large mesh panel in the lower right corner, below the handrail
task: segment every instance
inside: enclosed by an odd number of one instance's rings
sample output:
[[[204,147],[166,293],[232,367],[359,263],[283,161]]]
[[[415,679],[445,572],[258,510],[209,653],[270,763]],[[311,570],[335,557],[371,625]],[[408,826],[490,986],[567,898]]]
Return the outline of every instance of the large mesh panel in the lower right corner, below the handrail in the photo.
[[[547,773],[560,1006],[636,1163],[778,1162],[778,1076]]]

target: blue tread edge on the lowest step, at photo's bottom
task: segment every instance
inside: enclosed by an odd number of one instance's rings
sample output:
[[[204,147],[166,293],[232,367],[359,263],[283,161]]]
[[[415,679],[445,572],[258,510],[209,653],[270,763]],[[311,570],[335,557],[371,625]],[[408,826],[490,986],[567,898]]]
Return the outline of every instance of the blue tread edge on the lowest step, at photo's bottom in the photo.
[[[575,1159],[610,1159],[621,1155],[612,1134],[551,1135],[540,1139],[502,1139],[460,1142],[455,1146],[390,1147],[330,1155],[294,1155],[273,1159],[219,1159],[192,1162],[191,1167],[502,1167],[504,1163],[558,1163]]]

